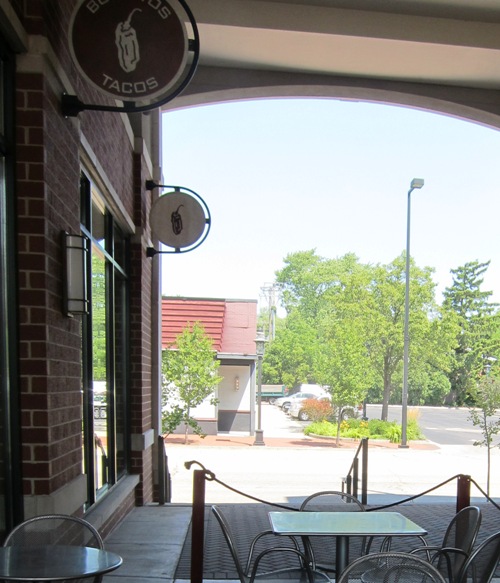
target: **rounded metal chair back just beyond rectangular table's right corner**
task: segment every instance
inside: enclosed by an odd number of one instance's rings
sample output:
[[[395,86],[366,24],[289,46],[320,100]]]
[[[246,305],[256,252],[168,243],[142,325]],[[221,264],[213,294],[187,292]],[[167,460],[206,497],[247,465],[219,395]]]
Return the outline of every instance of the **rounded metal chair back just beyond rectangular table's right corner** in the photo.
[[[437,568],[442,573],[448,573],[449,562],[449,568],[451,568],[449,576],[452,581],[455,581],[467,557],[472,552],[481,526],[481,517],[481,510],[477,506],[467,506],[455,514],[446,529],[442,546],[463,551],[463,554],[441,554],[436,563]]]

